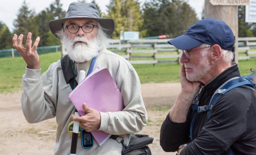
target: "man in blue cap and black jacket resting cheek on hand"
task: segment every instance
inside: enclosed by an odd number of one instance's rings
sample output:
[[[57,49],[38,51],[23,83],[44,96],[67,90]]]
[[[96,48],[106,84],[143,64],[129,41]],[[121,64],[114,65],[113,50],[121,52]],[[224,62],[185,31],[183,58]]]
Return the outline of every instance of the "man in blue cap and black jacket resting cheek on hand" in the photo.
[[[229,26],[203,19],[168,42],[183,53],[181,93],[161,126],[163,150],[179,155],[256,155],[253,90],[233,88],[208,106],[215,91],[222,91],[220,86],[240,77],[231,62],[235,40]]]

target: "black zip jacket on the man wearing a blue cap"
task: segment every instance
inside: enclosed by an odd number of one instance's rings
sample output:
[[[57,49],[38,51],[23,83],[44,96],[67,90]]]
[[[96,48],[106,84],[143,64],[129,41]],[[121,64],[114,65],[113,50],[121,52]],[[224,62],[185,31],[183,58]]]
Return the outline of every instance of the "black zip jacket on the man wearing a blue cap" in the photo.
[[[199,106],[208,105],[213,93],[230,78],[240,77],[237,64],[202,86]],[[190,141],[190,109],[185,123],[174,123],[167,115],[161,126],[160,145],[165,151],[176,151]],[[209,118],[199,113],[193,129],[194,140],[181,155],[226,155],[230,147],[236,155],[256,155],[256,98],[251,89],[239,87],[219,97]]]

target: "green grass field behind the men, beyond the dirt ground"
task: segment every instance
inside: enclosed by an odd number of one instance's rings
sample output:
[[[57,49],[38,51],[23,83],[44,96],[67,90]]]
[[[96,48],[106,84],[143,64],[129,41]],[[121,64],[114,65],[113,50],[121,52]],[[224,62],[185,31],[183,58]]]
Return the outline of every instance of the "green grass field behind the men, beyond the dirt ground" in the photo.
[[[60,58],[60,52],[42,54],[39,57],[41,73],[43,73],[51,63]],[[139,74],[141,83],[179,82],[180,65],[177,63],[157,64],[155,67],[151,64],[133,66]],[[0,58],[0,93],[21,89],[21,78],[25,67],[26,63],[22,57]],[[239,62],[241,75],[249,74],[251,67],[256,68],[256,62],[253,59]]]

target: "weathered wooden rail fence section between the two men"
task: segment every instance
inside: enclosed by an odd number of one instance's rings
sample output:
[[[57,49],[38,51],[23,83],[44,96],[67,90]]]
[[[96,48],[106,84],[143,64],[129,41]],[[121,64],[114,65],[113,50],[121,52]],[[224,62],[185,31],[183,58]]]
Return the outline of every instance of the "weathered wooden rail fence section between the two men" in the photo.
[[[111,40],[107,47],[132,64],[179,62],[181,50],[167,43],[170,39]]]

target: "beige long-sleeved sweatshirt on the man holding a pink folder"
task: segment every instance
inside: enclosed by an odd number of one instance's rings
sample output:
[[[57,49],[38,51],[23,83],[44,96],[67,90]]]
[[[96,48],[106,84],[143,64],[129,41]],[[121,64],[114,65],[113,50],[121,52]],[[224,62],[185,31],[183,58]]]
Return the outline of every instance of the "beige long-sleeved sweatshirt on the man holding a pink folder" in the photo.
[[[86,65],[85,65],[86,66]],[[121,135],[128,144],[131,133],[139,132],[147,124],[147,113],[141,96],[139,77],[133,66],[123,57],[103,50],[100,52],[95,66],[107,67],[117,87],[122,93],[124,109],[120,112],[101,112],[102,130],[109,134]],[[88,68],[85,67],[85,72]],[[21,96],[23,114],[29,123],[37,123],[56,116],[58,124],[56,134],[56,155],[69,155],[71,136],[67,125],[74,105],[68,98],[72,91],[65,82],[60,60],[50,65],[40,76],[41,70],[26,67],[22,77],[24,91]],[[94,147],[85,150],[81,147],[80,138],[77,145],[77,155],[120,155],[122,145],[108,139],[102,146],[94,140]]]

